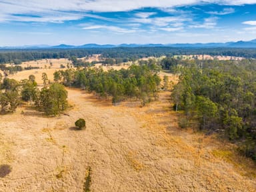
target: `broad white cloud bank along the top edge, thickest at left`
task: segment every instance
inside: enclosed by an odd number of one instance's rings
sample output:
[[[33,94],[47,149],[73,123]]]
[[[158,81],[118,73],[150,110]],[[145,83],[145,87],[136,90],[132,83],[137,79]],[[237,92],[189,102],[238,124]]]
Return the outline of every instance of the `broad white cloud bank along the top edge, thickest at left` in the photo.
[[[171,11],[173,7],[181,5],[196,5],[199,3],[217,3],[221,5],[243,5],[243,4],[255,4],[255,0],[139,0],[139,1],[127,1],[127,0],[2,0],[0,1],[1,7],[1,19],[0,21],[19,21],[19,16],[12,17],[15,14],[18,15],[39,15],[40,17],[46,17],[47,19],[35,19],[34,17],[27,17],[21,19],[21,21],[43,21],[43,22],[59,22],[73,19],[80,19],[87,11],[95,12],[115,12],[115,11],[131,11],[135,9],[141,9],[143,7],[155,7],[159,9],[166,9]],[[64,12],[63,12],[64,11]],[[67,15],[65,11],[74,11],[73,16]],[[227,9],[222,12],[215,12],[218,14],[230,13],[232,10]],[[214,13],[214,12],[213,12]],[[138,13],[139,14],[139,13]],[[148,13],[149,14],[149,13]],[[138,15],[139,16],[139,15]],[[141,18],[147,19],[150,15],[140,15]],[[21,17],[22,18],[22,17]]]

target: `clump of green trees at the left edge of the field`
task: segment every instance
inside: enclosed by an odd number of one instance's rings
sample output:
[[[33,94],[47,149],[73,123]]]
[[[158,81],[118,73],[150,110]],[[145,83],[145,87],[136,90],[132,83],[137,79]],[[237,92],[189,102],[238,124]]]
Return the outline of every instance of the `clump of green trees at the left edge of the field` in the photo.
[[[20,82],[5,77],[0,89],[1,113],[15,112],[22,101],[29,102],[47,115],[58,115],[67,109],[67,91],[59,83],[39,90],[34,75]]]

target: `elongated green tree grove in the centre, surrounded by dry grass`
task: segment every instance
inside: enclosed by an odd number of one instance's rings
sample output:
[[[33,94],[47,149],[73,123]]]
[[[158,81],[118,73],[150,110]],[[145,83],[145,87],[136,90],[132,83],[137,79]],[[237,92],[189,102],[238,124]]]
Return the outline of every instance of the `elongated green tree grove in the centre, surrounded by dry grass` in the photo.
[[[131,65],[129,69],[103,71],[101,68],[67,69],[54,73],[55,82],[95,91],[101,97],[111,96],[113,103],[127,97],[141,99],[143,105],[157,99],[161,79],[159,68]]]

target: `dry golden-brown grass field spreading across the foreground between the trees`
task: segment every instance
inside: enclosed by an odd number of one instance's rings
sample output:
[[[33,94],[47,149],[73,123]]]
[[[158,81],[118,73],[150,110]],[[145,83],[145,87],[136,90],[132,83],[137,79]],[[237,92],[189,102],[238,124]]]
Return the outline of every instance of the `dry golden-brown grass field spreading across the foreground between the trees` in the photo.
[[[10,78],[33,74],[41,83],[45,72],[52,81],[52,68]],[[85,191],[89,173],[91,191],[256,190],[255,164],[232,145],[179,129],[181,114],[171,110],[169,91],[145,107],[131,101],[113,106],[79,89],[67,91],[72,107],[65,115],[46,117],[24,105],[0,116],[0,165],[11,165],[0,178],[1,192]],[[79,118],[86,121],[83,131],[74,128]]]

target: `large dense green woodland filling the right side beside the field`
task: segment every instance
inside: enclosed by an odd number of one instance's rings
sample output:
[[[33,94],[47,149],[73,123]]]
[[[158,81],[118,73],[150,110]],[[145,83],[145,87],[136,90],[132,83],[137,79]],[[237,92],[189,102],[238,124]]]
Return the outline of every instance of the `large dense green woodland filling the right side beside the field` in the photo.
[[[222,133],[256,160],[256,61],[190,61],[171,97],[199,128]]]

